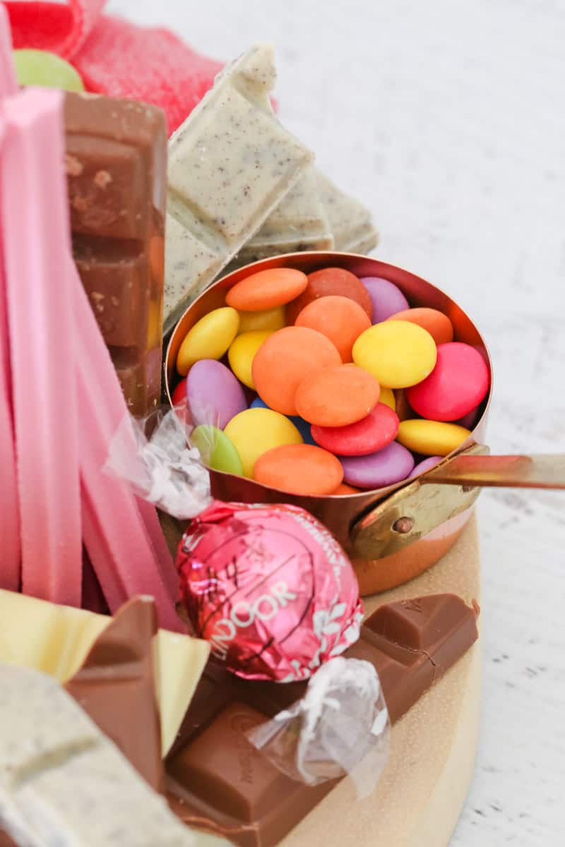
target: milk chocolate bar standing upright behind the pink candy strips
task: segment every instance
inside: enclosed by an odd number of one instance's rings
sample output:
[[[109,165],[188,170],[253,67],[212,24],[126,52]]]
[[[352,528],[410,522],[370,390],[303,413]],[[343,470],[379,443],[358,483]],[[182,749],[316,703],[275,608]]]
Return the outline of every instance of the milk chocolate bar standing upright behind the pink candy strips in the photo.
[[[161,393],[164,113],[69,93],[65,131],[75,263],[130,412],[142,416]]]

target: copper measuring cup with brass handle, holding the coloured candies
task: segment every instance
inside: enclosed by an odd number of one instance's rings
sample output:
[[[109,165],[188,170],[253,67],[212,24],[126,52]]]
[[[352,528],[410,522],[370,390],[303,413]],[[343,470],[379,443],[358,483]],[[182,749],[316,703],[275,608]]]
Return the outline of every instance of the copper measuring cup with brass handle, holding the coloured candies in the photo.
[[[319,518],[352,557],[361,593],[400,585],[438,562],[463,531],[485,485],[565,488],[565,457],[490,457],[485,446],[492,395],[492,363],[485,340],[457,303],[435,285],[403,268],[354,253],[290,253],[246,265],[204,291],[180,318],[169,340],[165,385],[171,402],[179,377],[174,364],[189,329],[214,308],[224,306],[227,289],[267,268],[297,268],[306,274],[339,267],[357,276],[382,276],[394,282],[411,306],[438,309],[451,319],[455,340],[474,346],[490,369],[490,390],[477,423],[456,451],[428,473],[387,488],[360,494],[310,497],[288,495],[252,479],[210,470],[213,496],[225,501],[288,502]]]

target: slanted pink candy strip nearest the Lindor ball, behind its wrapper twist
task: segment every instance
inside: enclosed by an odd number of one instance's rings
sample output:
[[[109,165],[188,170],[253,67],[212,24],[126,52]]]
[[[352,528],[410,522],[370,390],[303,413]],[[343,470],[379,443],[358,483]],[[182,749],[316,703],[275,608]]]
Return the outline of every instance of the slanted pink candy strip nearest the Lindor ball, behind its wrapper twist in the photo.
[[[79,334],[76,361],[86,549],[111,612],[130,597],[152,595],[160,626],[184,632],[174,608],[174,567],[155,510],[151,510],[150,525],[160,550],[152,544],[152,534],[147,532],[130,489],[102,473],[111,440],[127,411],[114,366],[74,263],[68,263],[67,273],[74,280],[73,305]],[[133,448],[132,439],[132,460],[135,459]],[[148,519],[149,514],[147,510]],[[163,555],[161,563],[158,552]],[[166,568],[170,573],[168,580],[163,579]]]

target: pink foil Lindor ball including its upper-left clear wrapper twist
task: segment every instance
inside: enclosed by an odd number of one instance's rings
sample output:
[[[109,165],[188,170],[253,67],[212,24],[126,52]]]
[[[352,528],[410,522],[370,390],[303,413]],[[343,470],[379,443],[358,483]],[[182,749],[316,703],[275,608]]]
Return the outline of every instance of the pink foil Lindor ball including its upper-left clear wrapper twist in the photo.
[[[132,426],[133,457],[124,450]],[[352,563],[304,509],[211,500],[208,471],[187,445],[190,431],[174,411],[145,424],[128,420],[106,468],[163,512],[191,518],[176,557],[180,595],[213,656],[242,678],[308,679],[359,637],[363,605]]]

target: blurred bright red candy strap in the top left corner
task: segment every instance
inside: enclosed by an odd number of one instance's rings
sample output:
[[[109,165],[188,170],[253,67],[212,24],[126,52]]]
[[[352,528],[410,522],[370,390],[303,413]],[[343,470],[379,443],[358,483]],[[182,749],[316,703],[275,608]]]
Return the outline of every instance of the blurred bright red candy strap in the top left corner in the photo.
[[[106,0],[68,3],[4,3],[14,47],[36,47],[72,58],[86,42]]]

